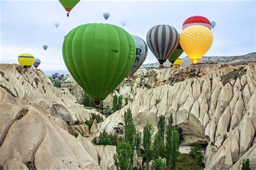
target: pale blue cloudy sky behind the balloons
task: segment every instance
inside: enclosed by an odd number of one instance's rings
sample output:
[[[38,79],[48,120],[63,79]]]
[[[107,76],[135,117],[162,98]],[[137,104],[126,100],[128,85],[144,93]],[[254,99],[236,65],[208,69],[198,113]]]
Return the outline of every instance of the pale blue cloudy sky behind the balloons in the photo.
[[[122,26],[146,41],[147,31],[167,24],[182,31],[183,22],[200,15],[215,21],[213,44],[206,56],[244,55],[256,51],[256,1],[80,1],[66,17],[58,1],[1,1],[0,63],[18,63],[31,53],[42,70],[66,70],[62,58],[64,36],[78,25],[109,23]],[[109,12],[105,21],[103,13]],[[54,23],[60,25],[56,29]],[[43,45],[48,45],[44,51]],[[181,58],[185,57],[183,53]],[[149,52],[144,63],[157,62]]]

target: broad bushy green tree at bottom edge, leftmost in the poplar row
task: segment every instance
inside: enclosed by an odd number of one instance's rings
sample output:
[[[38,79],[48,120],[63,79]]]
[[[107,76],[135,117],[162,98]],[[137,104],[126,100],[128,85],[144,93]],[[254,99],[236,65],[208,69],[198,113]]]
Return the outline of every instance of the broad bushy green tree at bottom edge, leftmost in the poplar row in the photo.
[[[125,141],[120,141],[117,144],[116,152],[113,159],[117,169],[132,169],[131,157],[133,153],[130,144]]]

